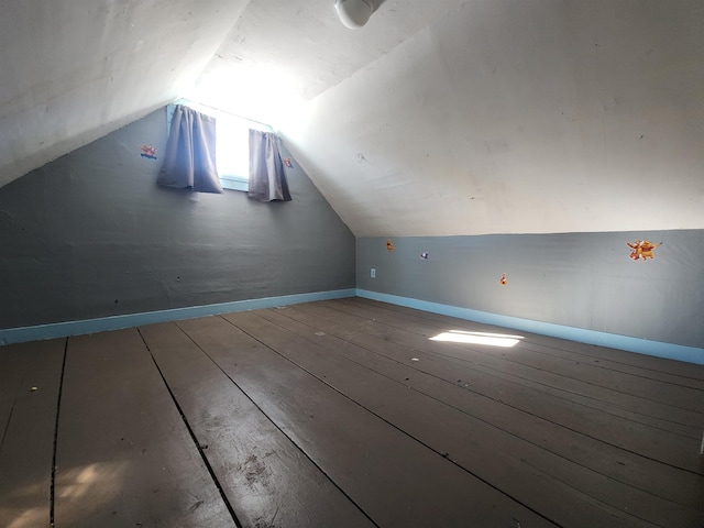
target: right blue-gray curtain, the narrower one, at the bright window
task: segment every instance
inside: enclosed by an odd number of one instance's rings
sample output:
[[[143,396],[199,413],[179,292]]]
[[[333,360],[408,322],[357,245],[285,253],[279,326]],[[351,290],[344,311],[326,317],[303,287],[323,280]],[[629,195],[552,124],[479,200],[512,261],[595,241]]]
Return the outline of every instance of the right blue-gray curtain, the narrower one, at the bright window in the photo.
[[[258,201],[290,201],[278,138],[271,132],[250,130],[250,190]]]

